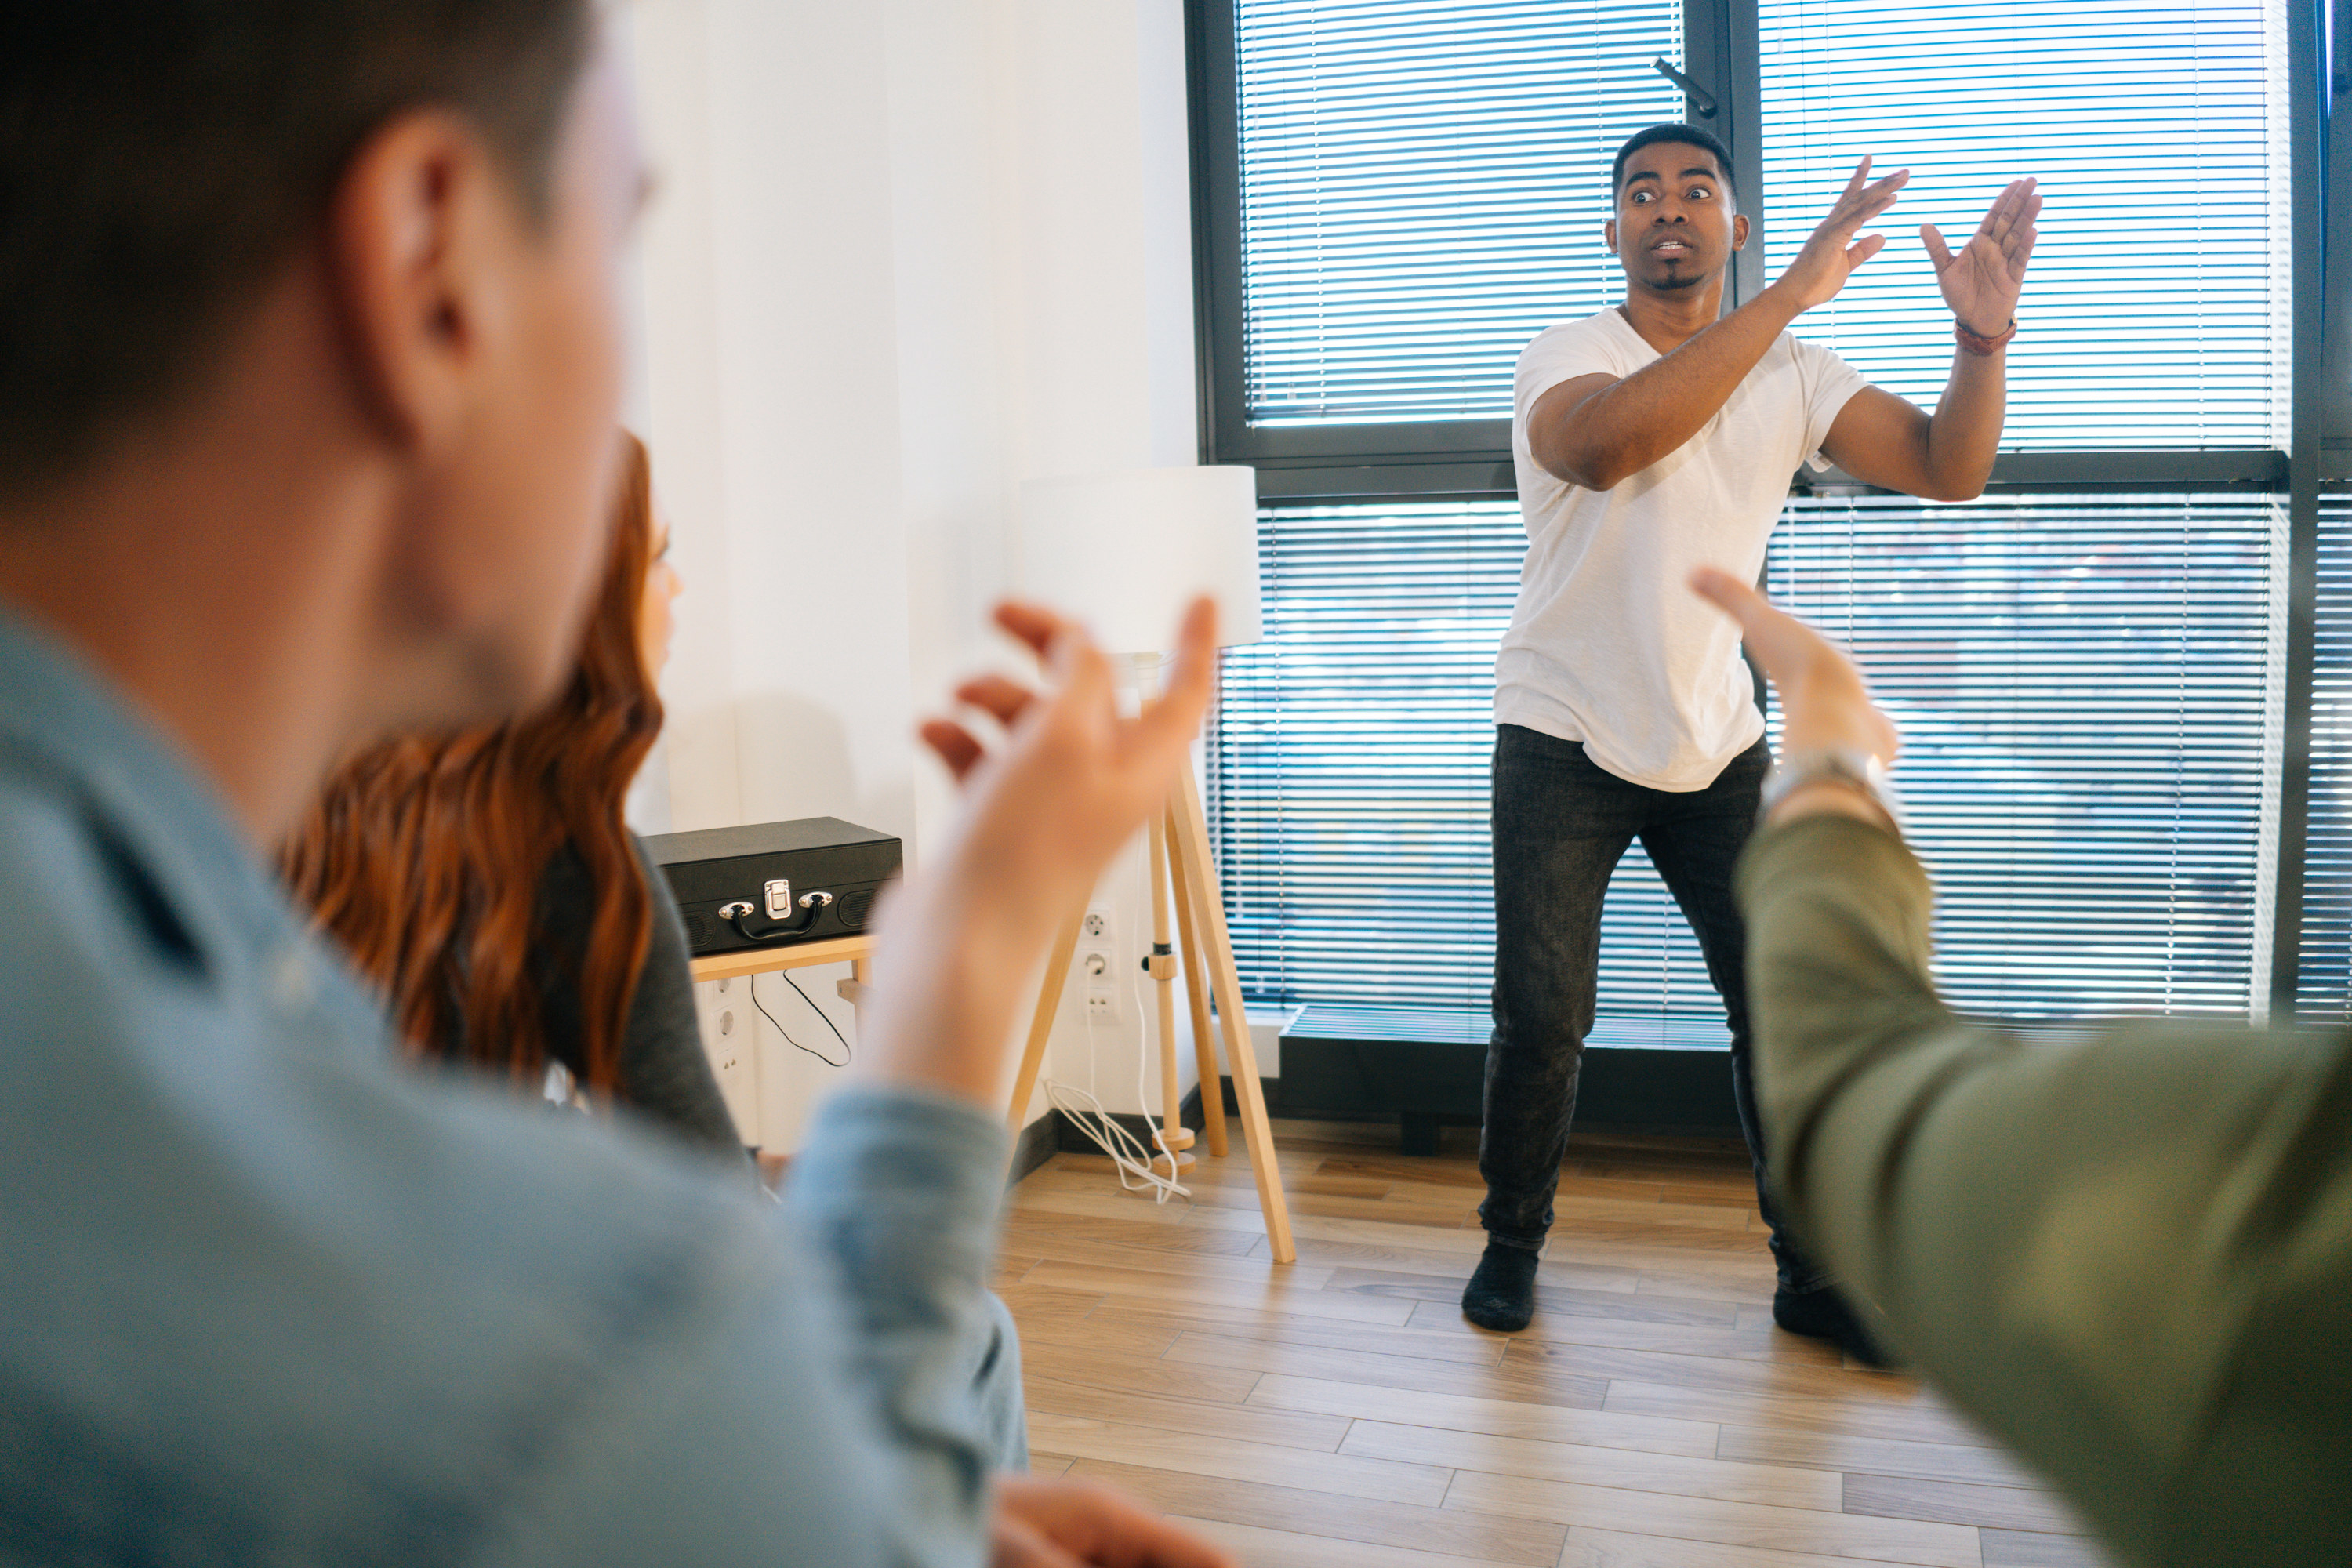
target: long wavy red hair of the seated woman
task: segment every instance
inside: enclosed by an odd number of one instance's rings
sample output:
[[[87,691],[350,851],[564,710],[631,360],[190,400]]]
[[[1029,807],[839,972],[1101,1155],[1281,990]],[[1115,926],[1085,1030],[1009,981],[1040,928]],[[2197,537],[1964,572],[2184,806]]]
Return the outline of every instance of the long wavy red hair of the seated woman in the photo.
[[[652,896],[621,804],[661,733],[640,616],[654,496],[621,435],[604,583],[550,705],[496,726],[402,736],[348,757],[280,851],[296,903],[350,954],[419,1056],[546,1077],[532,971],[539,884],[569,844],[595,914],[581,961],[586,1084],[609,1093],[644,966]]]

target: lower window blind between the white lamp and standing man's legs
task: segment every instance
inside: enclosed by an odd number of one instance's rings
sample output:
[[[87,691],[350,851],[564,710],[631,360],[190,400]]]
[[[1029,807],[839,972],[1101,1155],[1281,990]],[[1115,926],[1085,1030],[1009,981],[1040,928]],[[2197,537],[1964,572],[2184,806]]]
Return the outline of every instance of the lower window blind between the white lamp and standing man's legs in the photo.
[[[1494,654],[1524,550],[1508,501],[1261,512],[1265,639],[1225,654],[1209,733],[1211,830],[1254,999],[1486,1011]],[[1599,1011],[1722,1013],[1639,846],[1609,884]]]

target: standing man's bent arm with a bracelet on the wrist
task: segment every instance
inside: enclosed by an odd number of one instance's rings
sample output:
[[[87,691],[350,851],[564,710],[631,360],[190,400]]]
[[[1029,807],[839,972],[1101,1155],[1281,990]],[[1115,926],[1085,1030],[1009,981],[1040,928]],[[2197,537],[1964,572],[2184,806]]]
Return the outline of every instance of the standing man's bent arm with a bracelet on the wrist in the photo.
[[[1959,252],[1945,247],[1933,223],[1919,228],[1943,303],[1964,331],[1980,339],[2009,331],[2025,263],[2034,254],[2039,212],[2034,181],[2020,179],[2002,190]],[[1893,393],[1863,388],[1839,411],[1820,449],[1865,484],[1929,501],[1971,501],[1985,491],[2002,444],[2006,362],[2006,346],[1992,353],[1957,348],[1933,416]]]

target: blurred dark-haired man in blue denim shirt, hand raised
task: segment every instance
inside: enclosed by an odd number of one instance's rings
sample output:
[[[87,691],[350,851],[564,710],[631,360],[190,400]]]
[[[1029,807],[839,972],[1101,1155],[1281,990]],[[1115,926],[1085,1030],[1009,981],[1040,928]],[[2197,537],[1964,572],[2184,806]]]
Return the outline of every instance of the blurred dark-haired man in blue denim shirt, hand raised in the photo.
[[[1002,1041],[1164,799],[1049,693],[884,922],[783,1211],[395,1060],[261,856],[397,726],[546,696],[604,552],[644,176],[586,0],[0,7],[0,1561],[1223,1556],[995,1479]]]

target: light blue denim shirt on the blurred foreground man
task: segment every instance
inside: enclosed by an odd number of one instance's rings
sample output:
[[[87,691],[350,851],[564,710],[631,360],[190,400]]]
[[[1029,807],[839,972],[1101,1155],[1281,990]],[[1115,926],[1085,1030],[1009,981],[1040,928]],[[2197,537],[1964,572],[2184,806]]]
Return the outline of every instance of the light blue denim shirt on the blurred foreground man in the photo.
[[[402,1063],[181,755],[0,616],[0,1563],[976,1563],[1007,1143],[783,1208]]]

